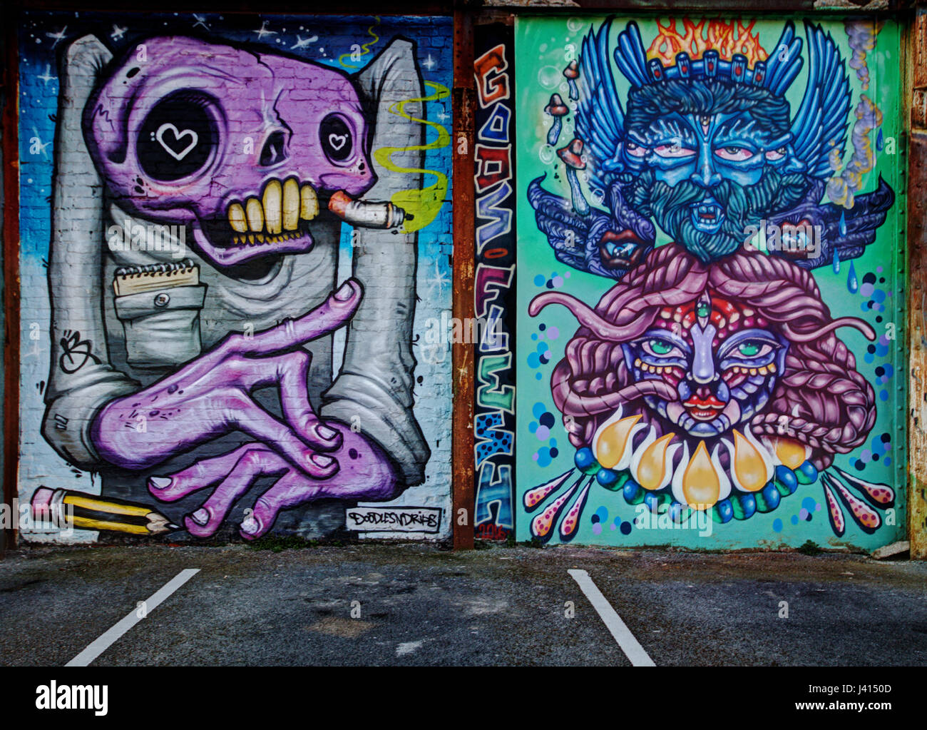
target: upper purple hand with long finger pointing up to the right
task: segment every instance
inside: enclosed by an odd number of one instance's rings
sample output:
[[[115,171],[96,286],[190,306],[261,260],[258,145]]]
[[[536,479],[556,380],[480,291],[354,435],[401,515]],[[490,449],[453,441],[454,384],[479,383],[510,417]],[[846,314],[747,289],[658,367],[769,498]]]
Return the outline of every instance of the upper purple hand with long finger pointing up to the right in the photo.
[[[310,355],[294,348],[345,325],[362,296],[361,284],[349,279],[307,314],[253,337],[229,335],[176,373],[111,401],[94,420],[97,451],[118,467],[143,469],[241,430],[310,477],[331,477],[338,462],[319,452],[337,449],[342,436],[315,415],[306,386]],[[269,385],[280,390],[283,420],[251,397]],[[145,429],[137,428],[139,416]]]

